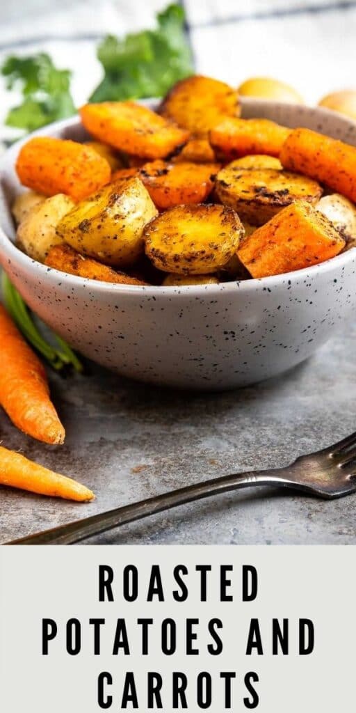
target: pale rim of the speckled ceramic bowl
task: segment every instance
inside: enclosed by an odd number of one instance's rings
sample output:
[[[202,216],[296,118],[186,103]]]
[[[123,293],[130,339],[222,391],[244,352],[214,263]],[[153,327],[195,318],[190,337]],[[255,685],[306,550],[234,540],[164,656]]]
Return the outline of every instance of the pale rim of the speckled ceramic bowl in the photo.
[[[157,100],[153,100],[155,103]],[[152,106],[152,100],[145,100],[142,103],[147,104],[148,106]],[[276,106],[276,108],[290,108],[290,106],[296,106],[298,109],[305,109],[305,111],[314,111],[316,113],[321,113],[323,115],[327,116],[334,116],[335,112],[330,111],[328,108],[325,107],[309,107],[305,105],[290,105],[287,103],[282,103],[282,102],[276,102],[276,101],[271,101],[271,100],[265,100],[265,99],[257,99],[257,98],[243,98],[242,100],[243,106],[245,105],[248,108],[251,108],[253,106],[256,106],[257,108],[264,108],[264,107],[269,107],[271,108],[271,105]],[[345,123],[345,128],[352,128],[356,127],[356,122],[353,121],[350,118],[347,118],[345,116],[342,116],[341,114],[337,113],[337,119],[338,120],[344,120],[342,123]],[[1,173],[1,168],[4,163],[6,163],[6,160],[13,156],[16,155],[18,150],[21,148],[21,145],[26,143],[29,138],[32,136],[38,136],[38,135],[48,135],[48,133],[51,133],[52,130],[63,130],[66,128],[74,128],[76,126],[80,125],[80,118],[78,114],[75,114],[75,116],[63,119],[60,121],[53,122],[51,124],[48,124],[36,131],[33,131],[31,134],[26,135],[25,137],[19,139],[15,143],[13,143],[0,157],[0,173]],[[269,275],[268,277],[251,277],[251,279],[243,279],[243,280],[231,280],[229,282],[219,282],[218,284],[188,284],[188,285],[133,285],[133,284],[115,284],[112,282],[101,282],[100,280],[96,279],[91,279],[88,277],[78,277],[78,275],[70,275],[68,272],[62,272],[61,270],[56,270],[54,267],[48,267],[47,265],[43,265],[43,263],[38,262],[38,260],[33,260],[33,258],[29,257],[26,255],[26,253],[22,252],[19,250],[18,247],[14,244],[14,242],[11,240],[9,235],[6,235],[6,232],[3,230],[3,228],[0,226],[0,247],[1,250],[3,251],[4,258],[3,258],[3,267],[4,270],[6,271],[6,263],[7,264],[19,264],[19,266],[24,269],[24,270],[30,270],[34,274],[37,271],[41,277],[46,278],[46,281],[53,282],[53,286],[58,287],[58,280],[61,282],[66,282],[68,284],[71,284],[71,286],[76,286],[76,287],[90,287],[90,289],[95,289],[96,292],[103,292],[103,293],[112,293],[112,294],[147,294],[149,296],[155,296],[155,297],[173,297],[173,296],[182,296],[182,294],[187,294],[187,295],[192,295],[196,297],[197,295],[203,295],[206,296],[206,293],[208,294],[219,294],[220,292],[229,293],[229,292],[236,292],[236,288],[239,289],[239,291],[243,292],[248,292],[250,289],[254,289],[255,287],[262,287],[265,288],[266,290],[271,289],[271,287],[277,287],[278,285],[284,284],[285,282],[288,282],[290,284],[291,282],[298,282],[300,279],[305,279],[305,278],[310,278],[313,279],[313,276],[318,275],[319,272],[323,273],[328,273],[328,272],[333,272],[334,268],[342,268],[345,265],[348,264],[348,262],[353,262],[353,260],[356,260],[356,247],[352,247],[349,250],[346,250],[345,252],[341,252],[339,255],[336,255],[335,257],[330,258],[330,260],[325,260],[324,262],[320,262],[317,265],[311,265],[310,267],[303,267],[301,270],[293,270],[292,272],[283,272],[281,275]],[[39,277],[38,275],[38,277]]]

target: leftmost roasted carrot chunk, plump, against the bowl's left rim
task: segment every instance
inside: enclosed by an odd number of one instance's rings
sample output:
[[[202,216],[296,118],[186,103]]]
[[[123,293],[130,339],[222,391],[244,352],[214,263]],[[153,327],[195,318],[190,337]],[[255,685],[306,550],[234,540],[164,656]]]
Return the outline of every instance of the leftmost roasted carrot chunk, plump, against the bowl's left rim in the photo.
[[[108,161],[91,146],[47,136],[23,145],[16,171],[27,188],[47,196],[66,193],[73,200],[94,193],[111,176]]]

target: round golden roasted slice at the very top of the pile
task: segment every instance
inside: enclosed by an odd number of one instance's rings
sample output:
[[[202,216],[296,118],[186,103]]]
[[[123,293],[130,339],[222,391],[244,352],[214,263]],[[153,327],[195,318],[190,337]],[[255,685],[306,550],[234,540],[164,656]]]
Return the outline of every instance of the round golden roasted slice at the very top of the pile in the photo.
[[[221,118],[239,116],[239,97],[228,84],[195,75],[174,84],[159,111],[192,135],[206,138]]]

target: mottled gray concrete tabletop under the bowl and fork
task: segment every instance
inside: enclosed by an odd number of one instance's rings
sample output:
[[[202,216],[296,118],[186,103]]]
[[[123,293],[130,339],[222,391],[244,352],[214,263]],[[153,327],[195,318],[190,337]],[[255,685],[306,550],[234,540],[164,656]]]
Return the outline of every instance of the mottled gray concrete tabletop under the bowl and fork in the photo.
[[[0,542],[230,471],[283,466],[356,429],[356,326],[279,379],[222,394],[135,384],[90,365],[53,376],[67,429],[59,448],[19,434],[4,445],[82,480],[97,499],[76,505],[0,489]],[[281,491],[219,496],[88,540],[99,544],[355,544],[356,495],[318,501]]]

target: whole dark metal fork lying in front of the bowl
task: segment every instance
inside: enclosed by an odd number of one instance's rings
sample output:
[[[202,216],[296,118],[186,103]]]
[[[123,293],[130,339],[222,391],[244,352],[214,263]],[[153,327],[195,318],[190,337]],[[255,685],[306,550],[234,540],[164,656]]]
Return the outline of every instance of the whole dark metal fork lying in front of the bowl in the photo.
[[[219,493],[276,486],[309,493],[320,498],[341,498],[356,491],[356,432],[322,451],[300,456],[286,468],[234,473],[204,483],[163,493],[140,503],[115,508],[51,530],[13,540],[9,545],[73,545],[86,538],[126,525],[135,520],[162,513],[184,503],[209,498]]]

